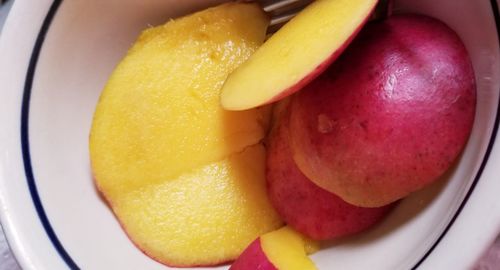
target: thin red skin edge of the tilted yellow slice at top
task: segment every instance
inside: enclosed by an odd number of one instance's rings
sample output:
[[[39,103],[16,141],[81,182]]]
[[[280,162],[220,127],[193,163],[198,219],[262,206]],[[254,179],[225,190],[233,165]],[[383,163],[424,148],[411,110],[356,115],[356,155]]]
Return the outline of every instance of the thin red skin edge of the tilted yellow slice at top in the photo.
[[[373,9],[375,9],[376,5],[373,6]],[[370,12],[372,14],[373,12]],[[274,102],[277,102],[279,100],[282,100],[295,92],[303,89],[307,84],[312,82],[314,79],[316,79],[319,75],[321,75],[339,56],[344,52],[344,50],[351,44],[351,42],[354,40],[356,35],[361,31],[361,29],[365,26],[366,22],[370,19],[371,16],[367,16],[363,22],[356,28],[356,30],[349,36],[349,38],[335,51],[332,52],[330,56],[328,56],[321,64],[319,64],[315,69],[311,70],[309,74],[304,76],[301,80],[299,80],[296,84],[288,87],[287,89],[284,89],[281,91],[279,94],[271,98],[268,102],[264,103],[263,105],[268,105]]]

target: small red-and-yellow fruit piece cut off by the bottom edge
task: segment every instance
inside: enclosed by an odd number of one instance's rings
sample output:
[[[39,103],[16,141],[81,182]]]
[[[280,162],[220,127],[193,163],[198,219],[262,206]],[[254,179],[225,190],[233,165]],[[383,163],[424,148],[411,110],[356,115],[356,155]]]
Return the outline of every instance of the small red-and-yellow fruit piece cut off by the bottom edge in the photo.
[[[254,240],[230,269],[316,269],[307,254],[315,252],[318,248],[317,242],[302,236],[290,227],[283,227]]]

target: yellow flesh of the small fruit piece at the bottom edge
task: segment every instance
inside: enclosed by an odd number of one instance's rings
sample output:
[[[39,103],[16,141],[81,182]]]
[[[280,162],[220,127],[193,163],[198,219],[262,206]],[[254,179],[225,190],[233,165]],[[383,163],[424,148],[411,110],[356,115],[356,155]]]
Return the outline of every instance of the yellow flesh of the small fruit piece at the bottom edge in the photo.
[[[269,261],[283,270],[316,269],[306,254],[314,253],[319,244],[286,226],[261,236],[262,250]]]

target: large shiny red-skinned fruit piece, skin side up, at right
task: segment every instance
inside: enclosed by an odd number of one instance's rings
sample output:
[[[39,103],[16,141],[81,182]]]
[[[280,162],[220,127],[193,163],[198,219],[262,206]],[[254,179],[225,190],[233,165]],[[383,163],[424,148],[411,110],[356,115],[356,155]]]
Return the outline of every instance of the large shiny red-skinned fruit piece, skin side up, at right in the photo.
[[[358,206],[396,201],[442,175],[466,144],[476,85],[444,23],[395,15],[371,23],[291,101],[293,158]]]

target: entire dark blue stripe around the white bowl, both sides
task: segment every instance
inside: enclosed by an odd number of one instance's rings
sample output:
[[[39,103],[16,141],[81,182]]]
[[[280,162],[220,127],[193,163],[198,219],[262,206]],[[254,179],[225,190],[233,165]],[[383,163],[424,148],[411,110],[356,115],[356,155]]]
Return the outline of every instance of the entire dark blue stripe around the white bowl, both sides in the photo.
[[[491,6],[492,6],[492,11],[493,15],[495,18],[495,23],[496,23],[496,28],[498,32],[498,37],[500,40],[500,14],[499,14],[499,9],[498,9],[498,3],[496,0],[490,0]],[[22,154],[23,154],[23,161],[24,161],[24,171],[26,174],[26,180],[28,182],[28,187],[29,191],[31,194],[31,198],[33,200],[33,204],[35,206],[35,209],[38,213],[38,217],[40,218],[40,222],[42,223],[45,232],[47,233],[47,236],[49,237],[50,241],[52,242],[54,248],[56,249],[57,253],[60,255],[61,259],[64,260],[64,262],[67,264],[67,266],[70,269],[74,270],[79,270],[80,268],[78,265],[75,263],[75,261],[71,258],[71,256],[68,254],[68,252],[64,249],[63,245],[57,238],[56,233],[54,232],[54,229],[50,225],[50,221],[47,217],[47,214],[45,213],[45,210],[43,208],[42,202],[40,200],[40,195],[38,194],[38,190],[36,187],[36,181],[35,177],[33,175],[33,168],[31,165],[31,156],[30,156],[30,147],[29,147],[29,106],[30,106],[30,97],[31,97],[31,90],[32,90],[32,85],[33,85],[33,78],[35,75],[36,71],[36,66],[38,63],[38,57],[40,56],[40,51],[42,49],[43,42],[45,41],[45,36],[47,34],[47,31],[49,30],[50,24],[52,23],[52,20],[54,16],[56,15],[56,12],[61,5],[62,0],[54,0],[52,5],[50,6],[50,9],[43,21],[42,27],[40,28],[40,32],[38,33],[35,46],[33,47],[33,51],[31,54],[27,74],[26,74],[26,80],[24,84],[24,92],[23,92],[23,99],[22,99],[22,105],[21,105],[21,148],[22,148]],[[499,100],[500,104],[500,100]],[[495,124],[493,128],[493,133],[490,137],[490,141],[488,143],[488,148],[487,151],[483,157],[483,160],[481,162],[481,166],[478,170],[478,173],[474,177],[474,181],[469,188],[469,191],[467,192],[465,198],[461,202],[459,208],[453,215],[453,218],[450,220],[450,222],[447,224],[445,227],[444,231],[441,233],[441,235],[436,239],[436,241],[433,243],[431,248],[422,255],[422,257],[417,261],[417,263],[412,267],[412,269],[417,269],[428,257],[429,255],[433,252],[433,250],[439,245],[441,240],[446,236],[448,233],[449,229],[453,226],[454,222],[457,220],[458,216],[462,212],[462,209],[464,208],[465,204],[469,200],[470,195],[474,191],[477,183],[479,182],[481,175],[484,171],[484,168],[488,162],[488,159],[490,157],[491,151],[493,149],[494,143],[495,143],[495,137],[498,132],[499,128],[499,121],[500,121],[500,106],[497,108],[497,114],[495,118]]]

